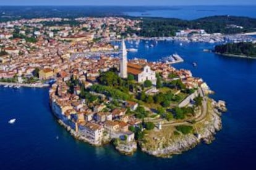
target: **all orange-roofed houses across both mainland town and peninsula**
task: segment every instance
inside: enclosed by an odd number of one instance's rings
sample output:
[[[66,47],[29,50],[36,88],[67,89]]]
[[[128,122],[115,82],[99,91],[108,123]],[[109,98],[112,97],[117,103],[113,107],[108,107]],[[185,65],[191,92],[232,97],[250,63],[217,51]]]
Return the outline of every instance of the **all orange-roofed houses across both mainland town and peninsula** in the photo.
[[[106,55],[96,58],[87,55],[87,52],[113,51],[114,47],[109,43],[92,40],[119,38],[127,27],[140,29],[136,27],[139,21],[119,17],[77,18],[76,20],[80,25],[43,25],[43,22],[69,21],[61,18],[0,23],[2,52],[0,78],[17,77],[19,83],[23,83],[24,78],[35,76],[35,71],[38,70],[38,82],[56,79],[56,83],[49,90],[51,107],[55,115],[91,144],[100,145],[105,138],[121,138],[132,142],[134,133],[129,131],[129,126],[137,126],[142,120],[129,116],[126,112],[128,109],[136,110],[138,103],[119,101],[122,107],[106,110],[108,103],[113,99],[92,92],[92,95],[100,97],[103,102],[88,105],[84,99],[80,99],[80,86],[74,87],[74,94],[67,92],[69,90],[67,82],[71,77],[84,84],[84,88],[87,89],[96,83],[100,73],[110,68],[118,70],[122,64],[124,75],[134,75],[139,83],[143,83],[146,79],[156,81],[155,73],[160,73],[167,80],[170,73],[175,73],[187,88],[202,85],[202,79],[192,77],[190,71],[176,70],[166,63],[150,63],[140,59],[128,62],[126,55],[123,55],[121,61]],[[24,38],[12,38],[17,26],[20,30],[19,34],[35,36],[36,42],[27,42]],[[25,30],[27,28],[36,28],[36,30]],[[77,55],[72,57],[74,54]]]

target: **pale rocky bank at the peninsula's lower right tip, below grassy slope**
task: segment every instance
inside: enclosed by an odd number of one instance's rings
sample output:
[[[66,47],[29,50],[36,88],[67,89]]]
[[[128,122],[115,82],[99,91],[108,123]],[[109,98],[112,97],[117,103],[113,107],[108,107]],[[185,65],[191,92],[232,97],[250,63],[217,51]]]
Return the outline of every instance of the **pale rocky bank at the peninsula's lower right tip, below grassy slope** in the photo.
[[[194,134],[179,134],[168,139],[168,145],[158,143],[158,147],[150,148],[147,144],[139,142],[142,151],[149,155],[169,158],[173,155],[181,154],[191,148],[194,148],[201,141],[206,144],[210,144],[215,139],[216,132],[220,131],[222,127],[220,113],[211,110],[208,114],[208,118],[198,124],[195,124],[197,132]]]

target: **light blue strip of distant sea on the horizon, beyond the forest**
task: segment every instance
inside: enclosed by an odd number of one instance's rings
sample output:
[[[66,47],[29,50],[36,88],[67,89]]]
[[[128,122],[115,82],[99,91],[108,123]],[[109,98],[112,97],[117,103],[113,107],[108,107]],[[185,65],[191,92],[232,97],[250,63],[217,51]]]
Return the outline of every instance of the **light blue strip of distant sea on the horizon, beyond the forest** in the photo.
[[[142,8],[143,9],[143,8]],[[164,17],[194,20],[214,15],[234,15],[256,18],[256,6],[174,6],[162,10],[124,12],[133,17]]]

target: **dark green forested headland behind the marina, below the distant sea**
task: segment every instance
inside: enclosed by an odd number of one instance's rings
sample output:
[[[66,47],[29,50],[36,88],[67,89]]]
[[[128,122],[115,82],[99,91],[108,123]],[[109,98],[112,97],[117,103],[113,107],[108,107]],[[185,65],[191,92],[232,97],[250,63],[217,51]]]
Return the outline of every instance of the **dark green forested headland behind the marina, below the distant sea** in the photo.
[[[135,19],[135,17],[129,17]],[[144,37],[175,36],[179,30],[187,28],[205,30],[207,33],[237,34],[255,32],[256,19],[229,15],[198,18],[196,20],[181,20],[178,18],[136,18],[141,30],[128,30]]]

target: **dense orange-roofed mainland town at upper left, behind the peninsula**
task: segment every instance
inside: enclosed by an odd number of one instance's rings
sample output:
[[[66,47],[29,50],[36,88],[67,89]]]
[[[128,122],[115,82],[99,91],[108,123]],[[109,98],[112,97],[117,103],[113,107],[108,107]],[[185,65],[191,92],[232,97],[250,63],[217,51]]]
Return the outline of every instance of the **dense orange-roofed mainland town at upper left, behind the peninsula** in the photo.
[[[33,76],[39,68],[40,79],[56,76],[69,67],[70,54],[114,51],[109,39],[121,38],[127,28],[139,29],[139,21],[120,17],[77,18],[79,24],[59,25],[67,18],[34,18],[0,23],[0,78]],[[48,25],[47,23],[56,25]],[[17,37],[19,34],[19,37]],[[26,38],[36,38],[36,42]],[[94,42],[101,38],[103,41]],[[93,73],[92,73],[93,74]]]

